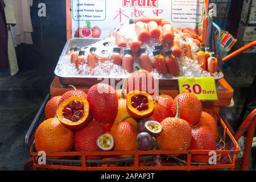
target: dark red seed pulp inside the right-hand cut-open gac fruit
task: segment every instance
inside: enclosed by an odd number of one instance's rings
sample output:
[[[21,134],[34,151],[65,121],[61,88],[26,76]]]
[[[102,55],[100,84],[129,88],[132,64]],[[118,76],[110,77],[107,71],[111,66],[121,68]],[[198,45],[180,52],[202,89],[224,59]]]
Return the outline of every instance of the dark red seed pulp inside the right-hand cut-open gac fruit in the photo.
[[[136,108],[138,111],[144,111],[148,109],[148,99],[146,96],[137,95],[131,97],[131,106]]]

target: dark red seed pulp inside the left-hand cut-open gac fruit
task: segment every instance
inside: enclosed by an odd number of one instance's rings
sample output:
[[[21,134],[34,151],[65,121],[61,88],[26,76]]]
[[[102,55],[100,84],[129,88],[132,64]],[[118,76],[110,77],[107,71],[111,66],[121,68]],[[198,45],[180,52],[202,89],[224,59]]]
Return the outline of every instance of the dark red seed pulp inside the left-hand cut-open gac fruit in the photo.
[[[81,101],[71,101],[62,111],[65,119],[77,122],[84,116],[84,104]]]

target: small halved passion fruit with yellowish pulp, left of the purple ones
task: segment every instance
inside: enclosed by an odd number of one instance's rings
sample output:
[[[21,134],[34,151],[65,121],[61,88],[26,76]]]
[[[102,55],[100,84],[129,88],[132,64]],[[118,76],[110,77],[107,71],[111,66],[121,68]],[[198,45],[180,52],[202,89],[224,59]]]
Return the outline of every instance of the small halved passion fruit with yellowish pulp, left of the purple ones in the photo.
[[[110,151],[114,147],[114,137],[112,134],[105,133],[97,139],[97,146],[103,151]]]

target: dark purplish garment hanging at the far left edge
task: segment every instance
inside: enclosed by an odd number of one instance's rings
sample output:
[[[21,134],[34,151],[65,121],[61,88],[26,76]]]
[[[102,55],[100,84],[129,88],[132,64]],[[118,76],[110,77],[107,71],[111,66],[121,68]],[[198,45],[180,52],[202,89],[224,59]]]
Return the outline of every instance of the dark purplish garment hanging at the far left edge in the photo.
[[[8,29],[5,17],[5,3],[0,0],[0,72],[8,71]]]

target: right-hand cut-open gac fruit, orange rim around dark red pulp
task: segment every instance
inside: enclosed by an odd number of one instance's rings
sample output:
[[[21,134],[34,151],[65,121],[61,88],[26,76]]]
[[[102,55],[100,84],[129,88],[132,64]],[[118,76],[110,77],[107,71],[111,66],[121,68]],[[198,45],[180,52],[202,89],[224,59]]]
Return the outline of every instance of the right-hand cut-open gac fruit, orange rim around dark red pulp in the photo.
[[[127,110],[135,118],[148,117],[154,110],[154,101],[150,94],[134,90],[127,94]]]

